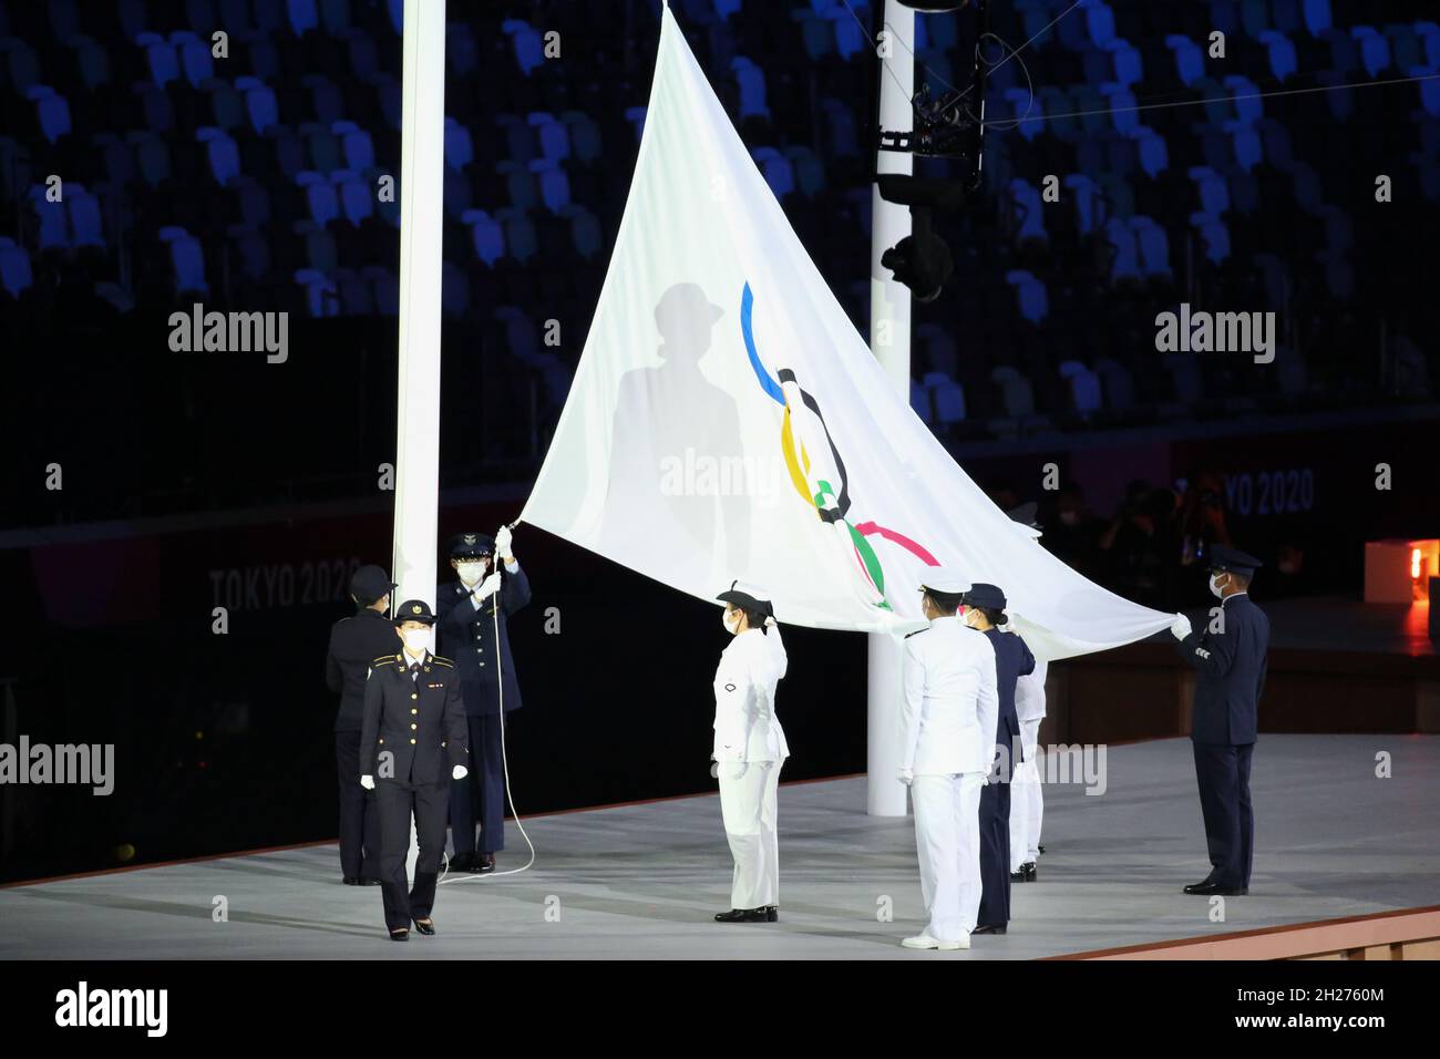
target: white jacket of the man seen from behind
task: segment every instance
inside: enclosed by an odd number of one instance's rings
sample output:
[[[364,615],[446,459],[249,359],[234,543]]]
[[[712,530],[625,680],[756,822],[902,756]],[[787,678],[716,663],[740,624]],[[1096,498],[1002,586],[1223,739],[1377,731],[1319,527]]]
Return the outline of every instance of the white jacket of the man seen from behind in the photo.
[[[935,618],[904,640],[900,768],[914,775],[988,772],[999,693],[989,637],[959,618]]]

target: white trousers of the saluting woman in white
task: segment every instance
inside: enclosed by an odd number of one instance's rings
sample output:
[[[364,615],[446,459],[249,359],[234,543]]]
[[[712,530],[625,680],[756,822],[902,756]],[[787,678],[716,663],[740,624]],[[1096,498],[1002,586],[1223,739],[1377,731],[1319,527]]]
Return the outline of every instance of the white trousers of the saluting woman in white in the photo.
[[[783,765],[783,761],[720,762],[720,813],[734,857],[730,908],[780,903],[776,808]]]

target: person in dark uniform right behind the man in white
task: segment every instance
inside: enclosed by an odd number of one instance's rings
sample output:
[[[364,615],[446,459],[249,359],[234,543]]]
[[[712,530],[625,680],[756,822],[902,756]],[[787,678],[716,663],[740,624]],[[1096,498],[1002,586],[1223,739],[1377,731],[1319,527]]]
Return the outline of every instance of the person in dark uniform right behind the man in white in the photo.
[[[976,582],[963,596],[962,621],[989,637],[995,648],[999,715],[995,725],[995,767],[981,788],[981,911],[971,934],[1004,934],[1009,925],[1009,781],[1020,752],[1015,682],[1035,671],[1035,656],[1018,633],[1007,633],[1005,594]]]

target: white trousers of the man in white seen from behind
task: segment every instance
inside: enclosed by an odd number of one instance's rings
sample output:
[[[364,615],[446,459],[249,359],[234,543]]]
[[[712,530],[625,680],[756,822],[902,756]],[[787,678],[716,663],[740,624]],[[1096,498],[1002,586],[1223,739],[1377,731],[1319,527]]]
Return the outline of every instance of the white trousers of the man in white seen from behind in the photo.
[[[981,911],[981,788],[984,772],[917,775],[910,781],[920,896],[937,941],[960,941]]]

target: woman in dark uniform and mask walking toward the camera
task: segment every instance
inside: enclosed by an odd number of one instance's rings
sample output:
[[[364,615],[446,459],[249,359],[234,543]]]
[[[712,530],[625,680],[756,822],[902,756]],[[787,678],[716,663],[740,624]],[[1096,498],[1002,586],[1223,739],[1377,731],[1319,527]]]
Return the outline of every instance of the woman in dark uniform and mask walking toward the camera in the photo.
[[[396,611],[400,644],[370,664],[360,729],[360,785],[376,792],[380,811],[380,896],[392,941],[406,941],[410,922],[435,934],[431,908],[445,853],[449,785],[468,772],[465,713],[455,663],[431,654],[435,614],[422,599]],[[419,857],[406,888],[410,814]]]

